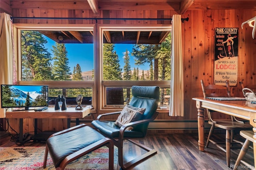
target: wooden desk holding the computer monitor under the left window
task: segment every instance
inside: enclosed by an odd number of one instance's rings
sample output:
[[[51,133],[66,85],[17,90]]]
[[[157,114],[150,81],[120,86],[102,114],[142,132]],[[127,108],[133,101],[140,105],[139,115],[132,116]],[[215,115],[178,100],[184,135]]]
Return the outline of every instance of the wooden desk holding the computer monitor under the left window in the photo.
[[[48,107],[44,111],[22,110],[22,111],[6,111],[6,118],[19,118],[20,119],[20,136],[19,142],[23,141],[23,119],[35,119],[35,134],[37,134],[37,119],[68,119],[68,128],[70,128],[70,119],[76,118],[76,125],[79,124],[79,118],[84,118],[90,114],[90,108],[83,110],[76,110],[75,107],[68,107],[66,110],[54,110],[54,107]]]

